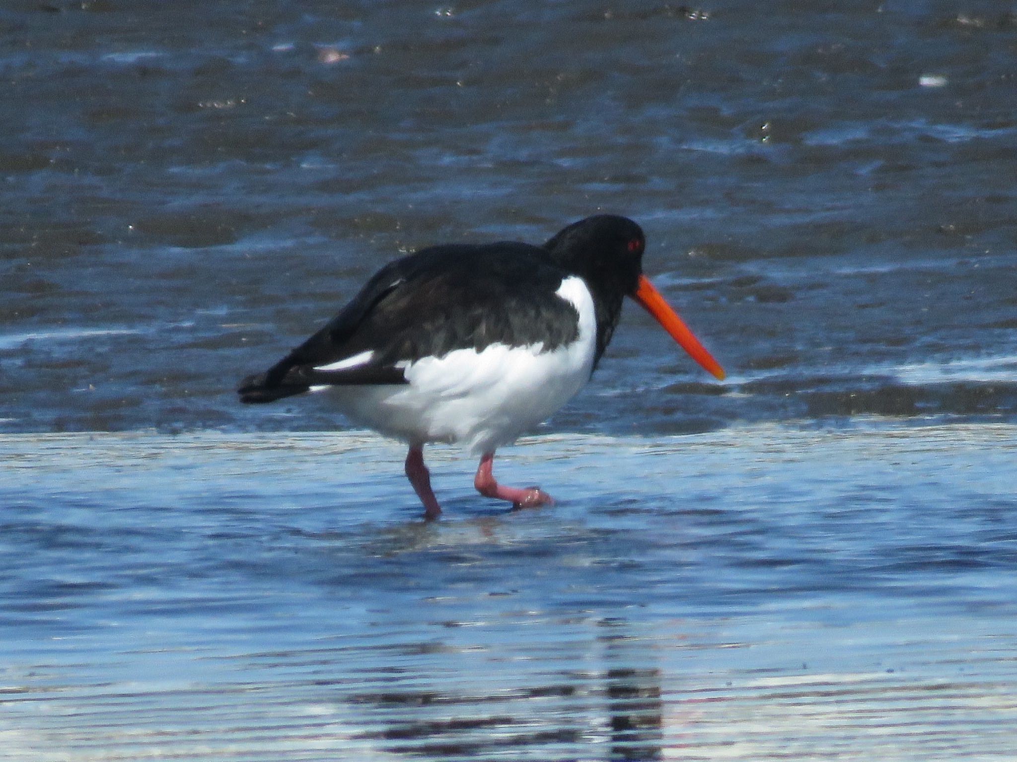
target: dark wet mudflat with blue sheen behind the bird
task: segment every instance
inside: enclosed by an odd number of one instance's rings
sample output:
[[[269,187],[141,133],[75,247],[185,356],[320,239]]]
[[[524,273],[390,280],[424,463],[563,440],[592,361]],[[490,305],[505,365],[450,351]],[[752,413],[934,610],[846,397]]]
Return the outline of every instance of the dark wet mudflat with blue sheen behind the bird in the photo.
[[[1017,9],[802,5],[8,1],[4,427],[331,429],[235,379],[401,251],[599,210],[732,378],[632,310],[553,429],[1012,420]]]

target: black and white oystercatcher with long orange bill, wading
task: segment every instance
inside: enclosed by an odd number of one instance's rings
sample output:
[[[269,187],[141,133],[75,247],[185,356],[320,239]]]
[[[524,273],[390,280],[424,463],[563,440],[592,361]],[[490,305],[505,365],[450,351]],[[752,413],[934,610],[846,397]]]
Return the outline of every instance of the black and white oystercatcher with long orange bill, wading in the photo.
[[[643,275],[633,220],[598,214],[543,246],[501,242],[423,249],[382,267],[317,333],[264,373],[243,402],[331,395],[354,423],[409,445],[406,475],[425,516],[441,512],[423,446],[481,455],[480,494],[516,507],[551,503],[499,485],[494,451],[561,407],[589,380],[632,297],[706,370],[724,371]]]

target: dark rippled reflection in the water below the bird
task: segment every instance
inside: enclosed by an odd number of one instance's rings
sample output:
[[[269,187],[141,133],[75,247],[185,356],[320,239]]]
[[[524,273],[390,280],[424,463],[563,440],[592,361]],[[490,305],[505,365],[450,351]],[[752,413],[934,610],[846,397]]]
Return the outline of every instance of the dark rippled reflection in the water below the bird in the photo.
[[[505,759],[513,750],[548,762],[662,759],[661,675],[648,665],[651,648],[625,620],[600,619],[594,626],[593,638],[573,641],[569,652],[556,654],[571,664],[528,672],[522,681],[505,676],[511,686],[484,686],[487,681],[478,683],[474,674],[457,675],[457,655],[440,646],[430,655],[447,661],[432,660],[433,675],[380,671],[371,681],[379,690],[347,697],[369,707],[371,729],[358,738],[417,759]],[[595,659],[601,665],[591,670]]]

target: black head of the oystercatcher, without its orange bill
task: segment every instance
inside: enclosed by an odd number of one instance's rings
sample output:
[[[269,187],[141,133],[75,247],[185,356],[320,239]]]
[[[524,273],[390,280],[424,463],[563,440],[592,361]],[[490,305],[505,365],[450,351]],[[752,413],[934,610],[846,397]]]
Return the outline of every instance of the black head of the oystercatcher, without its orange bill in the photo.
[[[573,223],[544,244],[551,260],[598,291],[633,296],[643,273],[643,230],[627,217],[597,214]]]

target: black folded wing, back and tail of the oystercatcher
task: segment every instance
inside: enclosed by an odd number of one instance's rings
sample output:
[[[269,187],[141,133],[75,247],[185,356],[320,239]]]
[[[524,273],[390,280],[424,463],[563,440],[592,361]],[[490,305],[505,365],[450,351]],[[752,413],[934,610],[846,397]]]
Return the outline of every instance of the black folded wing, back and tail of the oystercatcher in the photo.
[[[316,385],[406,383],[408,363],[457,348],[553,348],[578,332],[575,309],[554,295],[564,274],[543,249],[526,244],[424,249],[382,267],[324,327],[245,378],[240,399],[270,402]],[[367,353],[353,367],[319,370]]]

